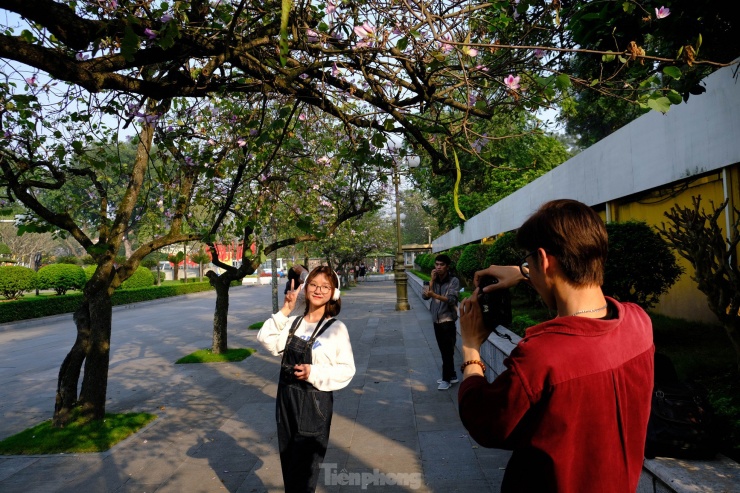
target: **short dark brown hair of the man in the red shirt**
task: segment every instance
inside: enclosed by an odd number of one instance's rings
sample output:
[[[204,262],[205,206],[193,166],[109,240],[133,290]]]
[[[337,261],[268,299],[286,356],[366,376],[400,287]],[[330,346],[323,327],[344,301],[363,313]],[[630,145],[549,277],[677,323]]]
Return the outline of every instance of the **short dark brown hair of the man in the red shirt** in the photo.
[[[606,226],[592,208],[570,199],[546,202],[516,235],[528,252],[543,248],[560,263],[566,280],[576,286],[601,286],[609,248]]]

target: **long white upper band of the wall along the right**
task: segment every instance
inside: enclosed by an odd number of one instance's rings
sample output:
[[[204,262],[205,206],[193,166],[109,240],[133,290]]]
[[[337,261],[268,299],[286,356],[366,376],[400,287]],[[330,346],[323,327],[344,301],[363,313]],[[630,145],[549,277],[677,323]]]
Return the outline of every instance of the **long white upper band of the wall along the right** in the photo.
[[[464,231],[435,239],[439,252],[518,228],[542,203],[588,205],[643,192],[740,162],[740,80],[725,67],[704,80],[707,92],[651,111],[470,218]]]

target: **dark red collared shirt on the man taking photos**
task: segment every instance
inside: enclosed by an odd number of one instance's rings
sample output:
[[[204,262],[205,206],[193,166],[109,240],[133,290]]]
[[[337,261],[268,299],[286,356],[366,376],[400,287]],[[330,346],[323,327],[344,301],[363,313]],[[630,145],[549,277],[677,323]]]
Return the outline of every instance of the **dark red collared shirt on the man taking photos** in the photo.
[[[653,389],[652,324],[637,305],[607,300],[616,317],[531,327],[496,380],[460,385],[470,436],[513,451],[502,492],[637,489]]]

